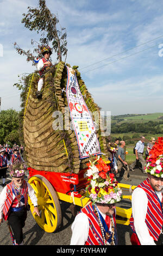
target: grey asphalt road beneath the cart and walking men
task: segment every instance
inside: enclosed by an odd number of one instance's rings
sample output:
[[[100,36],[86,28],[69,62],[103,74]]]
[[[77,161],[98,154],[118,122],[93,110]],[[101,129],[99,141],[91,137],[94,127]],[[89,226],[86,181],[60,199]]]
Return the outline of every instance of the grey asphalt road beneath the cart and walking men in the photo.
[[[119,178],[117,178],[117,180],[121,183],[139,185],[140,182],[146,179],[146,177],[146,174],[142,174],[139,169],[135,169],[135,172],[130,172],[131,181],[124,181],[123,179]],[[0,180],[0,185],[1,182],[2,180]],[[123,194],[128,193],[128,191],[123,192]],[[125,202],[123,202],[123,204],[123,206],[126,208],[131,207],[129,200],[126,200]],[[31,212],[28,212],[26,225],[23,228],[24,245],[70,245],[72,234],[71,224],[73,223],[74,217],[72,216],[71,211],[69,209],[69,203],[60,202],[60,205],[62,211],[61,226],[54,233],[46,233],[45,231],[43,231],[39,227],[39,225],[37,225],[37,223],[34,221]],[[0,230],[0,245],[12,245],[11,237],[6,222],[3,221]],[[117,224],[117,232],[119,245],[131,245],[129,226]]]

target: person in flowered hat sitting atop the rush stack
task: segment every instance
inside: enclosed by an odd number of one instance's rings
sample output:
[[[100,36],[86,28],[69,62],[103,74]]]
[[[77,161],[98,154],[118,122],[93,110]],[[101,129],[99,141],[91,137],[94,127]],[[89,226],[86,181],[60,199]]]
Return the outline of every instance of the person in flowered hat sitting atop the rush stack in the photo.
[[[37,70],[39,71],[39,74],[40,74],[40,80],[38,82],[37,93],[36,93],[37,98],[40,98],[42,96],[41,89],[43,86],[43,72],[46,70],[47,67],[52,66],[52,63],[49,61],[49,58],[52,54],[51,48],[43,47],[41,52],[42,52],[43,58],[40,59],[37,64]]]

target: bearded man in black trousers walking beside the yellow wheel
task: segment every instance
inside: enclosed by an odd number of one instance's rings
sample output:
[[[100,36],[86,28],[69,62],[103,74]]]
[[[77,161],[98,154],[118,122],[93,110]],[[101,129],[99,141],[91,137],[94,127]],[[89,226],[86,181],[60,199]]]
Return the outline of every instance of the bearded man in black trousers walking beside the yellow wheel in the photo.
[[[23,245],[23,231],[27,218],[28,196],[34,204],[34,212],[40,216],[37,208],[37,198],[33,188],[24,180],[26,166],[24,163],[17,163],[10,166],[12,181],[5,186],[0,195],[0,225],[3,220],[9,222],[14,233],[16,245]]]

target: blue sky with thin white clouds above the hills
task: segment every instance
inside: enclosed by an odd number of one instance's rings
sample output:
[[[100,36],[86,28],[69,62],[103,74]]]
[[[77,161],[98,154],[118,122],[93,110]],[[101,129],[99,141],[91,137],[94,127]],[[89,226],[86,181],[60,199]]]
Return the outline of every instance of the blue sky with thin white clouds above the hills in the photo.
[[[163,112],[163,1],[47,0],[67,31],[66,62],[78,65],[95,102],[112,115]],[[0,0],[1,109],[20,110],[18,75],[35,70],[24,49],[38,35],[21,23],[35,0]],[[159,48],[159,46],[162,48]],[[55,53],[52,54],[56,62]],[[64,60],[64,58],[63,58]]]

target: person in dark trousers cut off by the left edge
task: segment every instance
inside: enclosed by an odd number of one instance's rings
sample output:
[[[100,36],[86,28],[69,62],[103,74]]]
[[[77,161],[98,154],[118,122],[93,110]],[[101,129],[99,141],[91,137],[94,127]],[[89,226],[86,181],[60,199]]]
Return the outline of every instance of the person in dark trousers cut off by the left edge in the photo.
[[[5,155],[5,149],[0,149],[0,178],[2,179],[2,186],[5,185],[5,178],[7,173],[7,168],[9,167],[9,161],[7,155]]]

